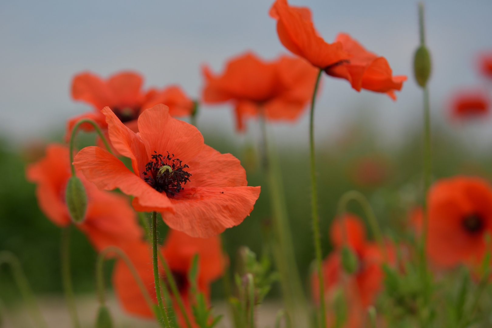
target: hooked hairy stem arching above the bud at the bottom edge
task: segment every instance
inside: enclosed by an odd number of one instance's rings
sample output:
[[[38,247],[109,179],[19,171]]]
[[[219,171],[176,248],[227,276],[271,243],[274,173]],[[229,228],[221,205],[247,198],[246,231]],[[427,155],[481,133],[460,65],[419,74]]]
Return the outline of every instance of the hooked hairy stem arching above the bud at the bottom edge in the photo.
[[[116,246],[108,246],[101,250],[99,254],[97,254],[97,260],[96,260],[96,288],[97,288],[97,298],[99,300],[100,305],[105,304],[105,287],[104,287],[104,260],[105,257],[108,253],[116,253],[120,257],[120,259],[123,260],[123,262],[126,264],[126,267],[130,270],[130,273],[133,276],[133,279],[135,279],[135,282],[138,285],[138,288],[140,289],[140,292],[142,293],[142,296],[145,298],[145,302],[149,307],[152,309],[154,308],[154,303],[152,302],[152,298],[149,295],[149,291],[147,291],[147,288],[144,285],[144,282],[142,281],[142,278],[140,278],[140,275],[137,272],[137,269],[131,262],[130,258],[126,255],[126,253],[119,247]]]

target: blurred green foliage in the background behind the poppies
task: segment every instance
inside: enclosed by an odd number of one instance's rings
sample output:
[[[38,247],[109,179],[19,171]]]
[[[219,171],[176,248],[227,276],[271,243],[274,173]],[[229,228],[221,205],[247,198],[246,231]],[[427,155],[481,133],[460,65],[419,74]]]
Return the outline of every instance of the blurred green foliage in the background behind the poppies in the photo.
[[[464,147],[446,129],[433,128],[434,179],[455,174],[490,177],[490,154],[479,155]],[[230,138],[204,132],[205,142],[220,152],[230,152],[238,157],[246,168],[249,185],[261,185],[262,192],[251,215],[223,234],[224,247],[234,268],[236,252],[246,245],[261,256],[264,241],[269,239],[270,206],[268,186],[259,165],[258,147],[254,141],[236,145]],[[92,135],[81,136],[79,146],[91,144]],[[408,234],[408,210],[421,200],[421,133],[415,130],[398,149],[379,146],[375,134],[355,124],[346,129],[343,136],[329,145],[318,143],[317,171],[324,255],[330,251],[328,229],[336,213],[338,198],[346,191],[358,189],[371,202],[383,231],[395,238]],[[307,146],[307,145],[306,145]],[[0,144],[0,249],[14,252],[20,259],[35,293],[61,293],[60,229],[39,210],[35,186],[26,181],[24,172],[30,150],[15,150]],[[308,184],[307,147],[293,149],[282,145],[279,151],[281,172],[287,198],[290,226],[296,259],[304,281],[314,258],[311,236]],[[357,171],[364,158],[384,159],[383,174],[378,181],[360,181]],[[376,161],[376,162],[377,162]],[[360,165],[359,165],[360,166]],[[296,167],[295,172],[292,167]],[[364,171],[362,171],[364,173]],[[371,171],[368,171],[371,174]],[[382,178],[381,178],[382,177]],[[356,204],[349,209],[362,215]],[[161,221],[162,222],[162,221]],[[161,226],[161,235],[166,227]],[[71,270],[76,293],[95,290],[95,252],[82,233],[73,229],[71,242]],[[110,281],[111,261],[107,263],[106,276]],[[307,287],[307,286],[306,286]],[[308,290],[308,288],[307,288]],[[213,295],[221,293],[221,283],[213,286]],[[274,290],[274,295],[278,289]],[[0,269],[0,298],[12,300],[19,295],[12,284],[10,272]]]

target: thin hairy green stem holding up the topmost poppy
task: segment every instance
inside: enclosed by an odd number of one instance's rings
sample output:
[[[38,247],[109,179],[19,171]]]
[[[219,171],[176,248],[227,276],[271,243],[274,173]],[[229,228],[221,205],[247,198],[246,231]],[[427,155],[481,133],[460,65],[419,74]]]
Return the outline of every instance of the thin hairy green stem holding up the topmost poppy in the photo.
[[[321,237],[319,234],[319,214],[318,214],[318,193],[316,187],[316,158],[314,156],[314,103],[316,102],[316,93],[319,87],[319,80],[323,70],[320,69],[314,85],[311,100],[311,110],[309,112],[309,159],[311,164],[311,216],[312,216],[312,232],[314,239],[314,251],[316,253],[316,268],[318,271],[319,280],[319,326],[326,328],[326,308],[325,308],[325,284],[323,281],[322,271],[322,253],[321,253]]]

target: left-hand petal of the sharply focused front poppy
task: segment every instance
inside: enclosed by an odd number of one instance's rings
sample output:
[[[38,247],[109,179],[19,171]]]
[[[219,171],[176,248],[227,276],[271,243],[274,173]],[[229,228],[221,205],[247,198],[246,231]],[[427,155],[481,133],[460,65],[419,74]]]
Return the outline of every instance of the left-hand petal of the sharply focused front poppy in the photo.
[[[77,153],[73,163],[75,168],[81,170],[86,179],[99,189],[120,188],[123,193],[138,198],[142,207],[151,208],[153,211],[174,212],[174,207],[165,194],[157,192],[104,149],[86,147]]]

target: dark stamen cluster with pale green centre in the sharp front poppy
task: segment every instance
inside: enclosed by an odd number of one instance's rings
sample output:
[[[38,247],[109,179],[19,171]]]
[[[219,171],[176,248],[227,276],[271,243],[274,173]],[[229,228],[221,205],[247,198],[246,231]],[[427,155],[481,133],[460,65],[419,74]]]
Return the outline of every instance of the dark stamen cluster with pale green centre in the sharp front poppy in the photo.
[[[174,158],[174,154],[170,155],[168,152],[164,157],[155,150],[154,152],[152,160],[145,165],[144,180],[158,192],[165,191],[166,194],[174,196],[184,189],[181,184],[189,181],[191,174],[184,171],[189,166]]]

